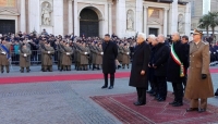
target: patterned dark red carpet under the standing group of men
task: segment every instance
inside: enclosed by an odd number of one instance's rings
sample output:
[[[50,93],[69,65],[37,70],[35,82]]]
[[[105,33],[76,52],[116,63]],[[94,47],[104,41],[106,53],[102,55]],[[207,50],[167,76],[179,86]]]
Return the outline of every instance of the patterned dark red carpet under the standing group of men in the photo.
[[[117,116],[124,124],[211,124],[218,123],[218,108],[208,106],[207,112],[186,112],[189,103],[183,107],[171,107],[171,92],[165,102],[157,102],[147,95],[146,106],[135,107],[136,94],[96,96],[92,99]]]

